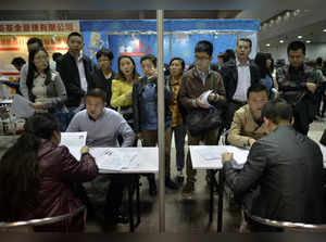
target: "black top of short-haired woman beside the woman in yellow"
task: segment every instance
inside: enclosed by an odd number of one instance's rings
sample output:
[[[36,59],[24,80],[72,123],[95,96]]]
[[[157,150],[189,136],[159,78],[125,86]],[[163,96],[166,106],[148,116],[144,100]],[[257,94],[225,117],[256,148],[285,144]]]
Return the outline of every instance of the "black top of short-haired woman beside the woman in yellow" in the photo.
[[[105,79],[101,69],[96,68],[91,75],[92,78],[92,87],[91,88],[100,88],[106,93],[106,106],[112,109],[110,105],[111,97],[112,97],[112,80],[115,78],[115,73],[112,71],[112,75],[109,79]]]

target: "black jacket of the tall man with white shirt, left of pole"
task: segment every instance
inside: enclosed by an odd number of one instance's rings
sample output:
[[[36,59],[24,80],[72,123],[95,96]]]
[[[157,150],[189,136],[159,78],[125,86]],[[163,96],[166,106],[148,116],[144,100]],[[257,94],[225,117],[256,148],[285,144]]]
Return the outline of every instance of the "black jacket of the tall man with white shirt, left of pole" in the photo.
[[[91,73],[95,71],[95,64],[86,55],[83,55],[83,62],[89,90],[92,87]],[[66,106],[79,106],[80,100],[85,95],[85,91],[80,88],[80,77],[74,56],[68,52],[62,55],[57,62],[57,71],[60,73],[66,89]]]

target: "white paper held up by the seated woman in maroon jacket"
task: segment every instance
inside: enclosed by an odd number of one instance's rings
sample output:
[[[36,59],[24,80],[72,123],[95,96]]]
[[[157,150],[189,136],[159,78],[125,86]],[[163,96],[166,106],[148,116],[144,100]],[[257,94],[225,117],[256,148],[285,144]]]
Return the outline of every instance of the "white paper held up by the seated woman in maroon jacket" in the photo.
[[[87,132],[61,132],[61,145],[65,145],[70,149],[72,155],[77,161],[80,161],[80,150],[86,145]]]

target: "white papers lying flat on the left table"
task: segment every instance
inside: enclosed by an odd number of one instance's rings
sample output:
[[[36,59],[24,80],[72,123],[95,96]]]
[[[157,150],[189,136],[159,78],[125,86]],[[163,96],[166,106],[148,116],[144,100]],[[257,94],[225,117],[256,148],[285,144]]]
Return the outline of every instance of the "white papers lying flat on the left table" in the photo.
[[[139,157],[136,151],[92,148],[90,153],[95,156],[99,169],[102,170],[122,171],[139,166]]]

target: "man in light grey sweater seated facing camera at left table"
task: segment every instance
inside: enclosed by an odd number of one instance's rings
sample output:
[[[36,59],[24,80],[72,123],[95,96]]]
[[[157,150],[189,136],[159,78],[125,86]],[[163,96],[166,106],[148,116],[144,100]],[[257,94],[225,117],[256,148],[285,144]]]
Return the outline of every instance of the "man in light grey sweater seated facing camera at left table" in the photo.
[[[103,90],[96,88],[85,95],[86,110],[78,112],[72,119],[67,132],[87,131],[88,147],[118,147],[117,137],[123,137],[123,148],[133,147],[135,133],[123,116],[114,110],[106,109],[106,97]],[[123,191],[130,182],[129,175],[103,175],[111,182],[106,192],[105,218],[113,222],[128,222],[120,212]]]

